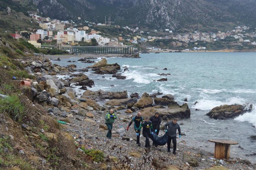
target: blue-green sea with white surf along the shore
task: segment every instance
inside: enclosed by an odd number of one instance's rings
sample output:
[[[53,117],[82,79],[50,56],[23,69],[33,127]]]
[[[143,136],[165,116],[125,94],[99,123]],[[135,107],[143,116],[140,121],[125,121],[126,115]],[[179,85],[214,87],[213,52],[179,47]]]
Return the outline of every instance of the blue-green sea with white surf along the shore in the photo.
[[[106,58],[109,64],[118,63],[121,66],[119,73],[127,76],[127,79],[117,80],[111,74],[93,74],[89,70],[85,74],[94,81],[95,86],[88,90],[127,90],[128,96],[135,92],[140,96],[144,92],[161,92],[172,94],[179,104],[183,104],[187,98],[191,116],[178,121],[184,124],[180,127],[186,134],[178,141],[185,140],[188,146],[214,152],[214,143],[208,139],[234,140],[239,144],[231,145],[230,157],[256,163],[256,156],[253,155],[256,153],[256,140],[249,138],[256,135],[256,53],[150,53],[140,54],[140,57]],[[92,65],[80,61],[67,63],[68,60],[78,59],[72,57],[52,63],[60,66],[76,64],[78,70]],[[100,60],[95,59],[96,62]],[[129,71],[123,71],[125,67]],[[160,76],[161,73],[171,75]],[[69,76],[58,77],[65,79]],[[163,77],[167,81],[156,81]],[[78,95],[82,95],[84,90],[78,88],[75,87]],[[196,101],[198,103],[194,105]],[[223,104],[253,104],[253,110],[229,120],[215,120],[206,116],[211,109]]]

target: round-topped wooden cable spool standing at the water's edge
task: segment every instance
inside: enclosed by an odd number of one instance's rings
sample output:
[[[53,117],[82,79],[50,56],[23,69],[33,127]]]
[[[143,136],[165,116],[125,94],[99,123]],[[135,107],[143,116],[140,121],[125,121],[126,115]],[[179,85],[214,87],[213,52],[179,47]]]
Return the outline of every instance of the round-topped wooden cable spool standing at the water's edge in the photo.
[[[237,141],[209,139],[208,141],[215,143],[214,157],[218,159],[229,159],[230,145],[238,144]]]

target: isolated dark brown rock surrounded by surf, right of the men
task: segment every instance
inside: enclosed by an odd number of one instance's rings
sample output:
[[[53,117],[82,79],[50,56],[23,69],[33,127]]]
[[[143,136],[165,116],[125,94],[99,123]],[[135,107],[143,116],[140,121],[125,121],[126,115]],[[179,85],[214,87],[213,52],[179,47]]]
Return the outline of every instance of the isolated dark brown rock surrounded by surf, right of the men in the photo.
[[[252,110],[252,105],[247,107],[249,109],[245,109],[245,108],[246,108],[246,105],[242,106],[240,104],[232,104],[232,105],[225,104],[223,106],[221,105],[218,107],[214,107],[206,115],[213,119],[225,120],[225,119],[239,116],[247,111]]]

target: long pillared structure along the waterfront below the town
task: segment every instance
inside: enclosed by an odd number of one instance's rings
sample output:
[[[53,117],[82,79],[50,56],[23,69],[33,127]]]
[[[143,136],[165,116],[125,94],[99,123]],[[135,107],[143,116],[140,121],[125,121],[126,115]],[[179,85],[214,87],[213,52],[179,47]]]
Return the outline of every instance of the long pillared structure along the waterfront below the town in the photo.
[[[43,46],[42,48],[59,49],[70,53],[89,54],[138,54],[138,48],[134,46]]]

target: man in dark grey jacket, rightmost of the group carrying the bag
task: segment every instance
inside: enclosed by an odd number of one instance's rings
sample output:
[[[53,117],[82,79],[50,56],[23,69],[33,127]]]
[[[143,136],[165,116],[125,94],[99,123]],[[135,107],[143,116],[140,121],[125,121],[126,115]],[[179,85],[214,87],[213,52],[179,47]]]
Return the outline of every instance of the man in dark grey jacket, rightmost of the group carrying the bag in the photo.
[[[165,133],[167,133],[168,135],[168,141],[167,141],[167,149],[168,152],[170,151],[171,148],[171,141],[173,141],[173,154],[176,154],[176,132],[178,129],[179,132],[179,137],[181,137],[181,132],[180,132],[180,125],[177,123],[177,119],[173,119],[173,121],[169,121],[168,123],[166,123],[165,126]],[[168,126],[168,129],[167,129]]]

